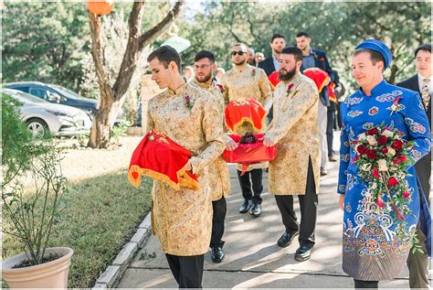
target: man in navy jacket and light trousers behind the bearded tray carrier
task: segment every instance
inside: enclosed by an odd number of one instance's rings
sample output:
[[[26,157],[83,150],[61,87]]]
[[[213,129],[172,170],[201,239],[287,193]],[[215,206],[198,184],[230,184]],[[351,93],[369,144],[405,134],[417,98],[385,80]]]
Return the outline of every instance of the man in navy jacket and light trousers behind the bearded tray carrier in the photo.
[[[319,68],[326,71],[333,81],[333,69],[329,64],[326,53],[322,50],[312,48],[310,45],[312,38],[307,32],[300,32],[296,35],[296,46],[302,51],[302,66],[301,71],[309,68]],[[328,107],[331,103],[329,101],[328,90],[323,89],[320,93],[319,102],[319,132],[321,134],[321,176],[328,174],[328,141],[326,135],[326,127],[328,125]],[[333,124],[333,120],[330,120]],[[332,157],[332,160],[334,158]],[[335,160],[333,160],[335,161]]]

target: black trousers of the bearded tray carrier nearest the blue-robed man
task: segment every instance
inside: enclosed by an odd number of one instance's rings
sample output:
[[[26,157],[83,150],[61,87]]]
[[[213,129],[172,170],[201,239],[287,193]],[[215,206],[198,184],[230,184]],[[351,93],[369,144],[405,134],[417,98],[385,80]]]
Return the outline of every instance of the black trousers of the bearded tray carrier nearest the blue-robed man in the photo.
[[[299,231],[300,245],[314,246],[314,231],[316,229],[317,205],[319,203],[312,172],[312,159],[309,159],[307,186],[305,195],[298,196],[301,208],[301,225],[298,223],[295,210],[293,209],[293,196],[275,196],[277,206],[280,209],[282,223],[286,232]]]

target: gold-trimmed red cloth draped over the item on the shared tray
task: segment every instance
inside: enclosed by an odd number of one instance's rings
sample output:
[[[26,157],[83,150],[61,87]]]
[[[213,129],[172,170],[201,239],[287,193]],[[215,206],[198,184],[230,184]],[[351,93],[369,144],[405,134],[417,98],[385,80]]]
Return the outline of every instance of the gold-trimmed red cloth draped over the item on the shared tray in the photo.
[[[236,132],[238,126],[244,122],[252,124],[255,131],[260,131],[266,117],[265,109],[254,99],[247,99],[243,102],[228,102],[225,114],[227,128],[231,132]]]

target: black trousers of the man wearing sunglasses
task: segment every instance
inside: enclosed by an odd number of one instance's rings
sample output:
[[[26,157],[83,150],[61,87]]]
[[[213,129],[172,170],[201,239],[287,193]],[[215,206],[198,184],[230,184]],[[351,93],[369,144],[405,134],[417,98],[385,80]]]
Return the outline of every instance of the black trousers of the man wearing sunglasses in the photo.
[[[263,169],[252,169],[241,176],[241,172],[238,171],[238,179],[240,183],[240,189],[242,190],[242,196],[245,200],[252,200],[253,203],[261,204],[261,192],[263,191]],[[251,177],[251,181],[249,181]],[[252,190],[251,190],[252,183]],[[253,195],[254,192],[254,195]]]

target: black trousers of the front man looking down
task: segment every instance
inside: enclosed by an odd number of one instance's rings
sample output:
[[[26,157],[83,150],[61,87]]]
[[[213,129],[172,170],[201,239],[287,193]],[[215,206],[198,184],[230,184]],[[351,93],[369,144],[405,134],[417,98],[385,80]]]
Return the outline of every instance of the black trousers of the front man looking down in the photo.
[[[176,256],[166,253],[165,257],[179,288],[202,288],[205,254]]]

